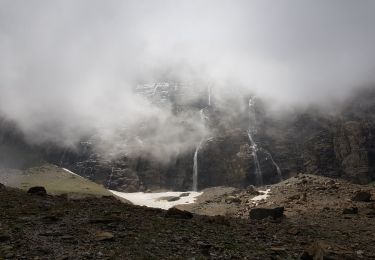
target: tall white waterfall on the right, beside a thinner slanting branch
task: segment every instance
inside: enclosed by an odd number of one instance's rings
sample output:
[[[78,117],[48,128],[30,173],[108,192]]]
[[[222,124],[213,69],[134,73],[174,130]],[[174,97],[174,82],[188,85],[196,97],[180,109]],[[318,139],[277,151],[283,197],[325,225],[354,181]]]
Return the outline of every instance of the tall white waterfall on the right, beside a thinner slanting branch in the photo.
[[[254,101],[253,98],[249,99],[249,129],[247,130],[247,136],[249,137],[251,148],[253,149],[253,159],[255,165],[255,180],[257,185],[263,184],[263,175],[262,170],[260,168],[259,160],[258,160],[258,146],[255,143],[252,134],[256,132],[256,117],[254,111]]]

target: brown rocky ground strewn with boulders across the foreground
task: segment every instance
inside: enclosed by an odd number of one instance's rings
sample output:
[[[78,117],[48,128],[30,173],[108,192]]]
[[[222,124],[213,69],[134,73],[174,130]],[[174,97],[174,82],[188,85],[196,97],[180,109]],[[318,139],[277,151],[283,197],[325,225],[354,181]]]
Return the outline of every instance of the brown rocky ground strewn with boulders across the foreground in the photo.
[[[271,193],[258,205],[254,187],[211,188],[190,210],[231,210],[204,216],[1,186],[0,258],[375,258],[374,186],[300,175],[263,188]]]

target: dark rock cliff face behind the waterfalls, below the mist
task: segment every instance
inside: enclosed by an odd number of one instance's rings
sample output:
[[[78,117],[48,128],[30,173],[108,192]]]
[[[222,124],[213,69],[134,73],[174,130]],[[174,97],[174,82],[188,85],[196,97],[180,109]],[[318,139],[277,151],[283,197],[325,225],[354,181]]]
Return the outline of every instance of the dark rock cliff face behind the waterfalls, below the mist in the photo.
[[[204,98],[181,103],[181,93],[165,94],[168,93],[168,85],[159,86],[158,89],[164,93],[159,97],[162,98],[159,103],[171,102],[175,113],[186,110],[199,113],[201,109],[204,114],[211,135],[203,140],[198,152],[198,189],[256,184],[255,148],[247,135],[249,116],[246,109],[239,109],[233,114],[222,105],[216,105],[214,100],[212,105],[208,105]],[[158,96],[152,98],[158,100]],[[244,107],[247,102],[248,98],[244,98]],[[272,160],[280,167],[283,179],[306,172],[341,177],[355,183],[374,181],[374,112],[373,88],[356,93],[335,114],[309,108],[275,117],[268,114],[265,104],[258,100],[255,103],[257,131],[253,139],[258,145],[256,154],[263,184],[280,180]],[[27,168],[48,161],[109,189],[126,192],[192,188],[194,150],[177,154],[167,163],[147,155],[120,156],[109,160],[95,152],[94,142],[87,139],[74,150],[53,144],[30,145],[15,124],[1,119],[0,165]]]

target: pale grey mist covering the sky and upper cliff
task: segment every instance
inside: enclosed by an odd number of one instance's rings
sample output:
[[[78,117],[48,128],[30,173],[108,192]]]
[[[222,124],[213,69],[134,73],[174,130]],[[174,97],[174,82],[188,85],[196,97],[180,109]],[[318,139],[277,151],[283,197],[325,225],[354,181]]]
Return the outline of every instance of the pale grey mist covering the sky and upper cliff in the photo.
[[[374,13],[370,0],[3,0],[0,114],[33,144],[96,136],[103,154],[165,160],[208,130],[137,85],[210,85],[221,104],[254,93],[270,110],[329,105],[375,80]]]

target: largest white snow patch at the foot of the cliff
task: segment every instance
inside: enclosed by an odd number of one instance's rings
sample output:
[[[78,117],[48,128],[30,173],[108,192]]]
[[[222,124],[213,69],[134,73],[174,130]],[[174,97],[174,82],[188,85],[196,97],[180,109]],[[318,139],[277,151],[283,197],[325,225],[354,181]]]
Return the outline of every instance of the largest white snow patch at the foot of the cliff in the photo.
[[[144,193],[144,192],[119,192],[109,190],[114,195],[127,199],[134,205],[146,206],[150,208],[169,209],[176,205],[191,204],[194,203],[196,198],[203,194],[203,192],[196,191],[168,191],[168,192],[155,192],[155,193]],[[180,197],[181,194],[187,195]],[[178,200],[168,201],[171,197],[178,197]]]

